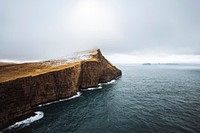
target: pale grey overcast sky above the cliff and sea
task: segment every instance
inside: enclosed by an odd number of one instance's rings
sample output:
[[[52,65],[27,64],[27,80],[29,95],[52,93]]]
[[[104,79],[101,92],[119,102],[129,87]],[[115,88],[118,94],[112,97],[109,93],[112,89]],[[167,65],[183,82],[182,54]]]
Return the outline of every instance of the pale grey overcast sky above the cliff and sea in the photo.
[[[200,0],[0,0],[0,59],[100,48],[114,63],[200,63]]]

